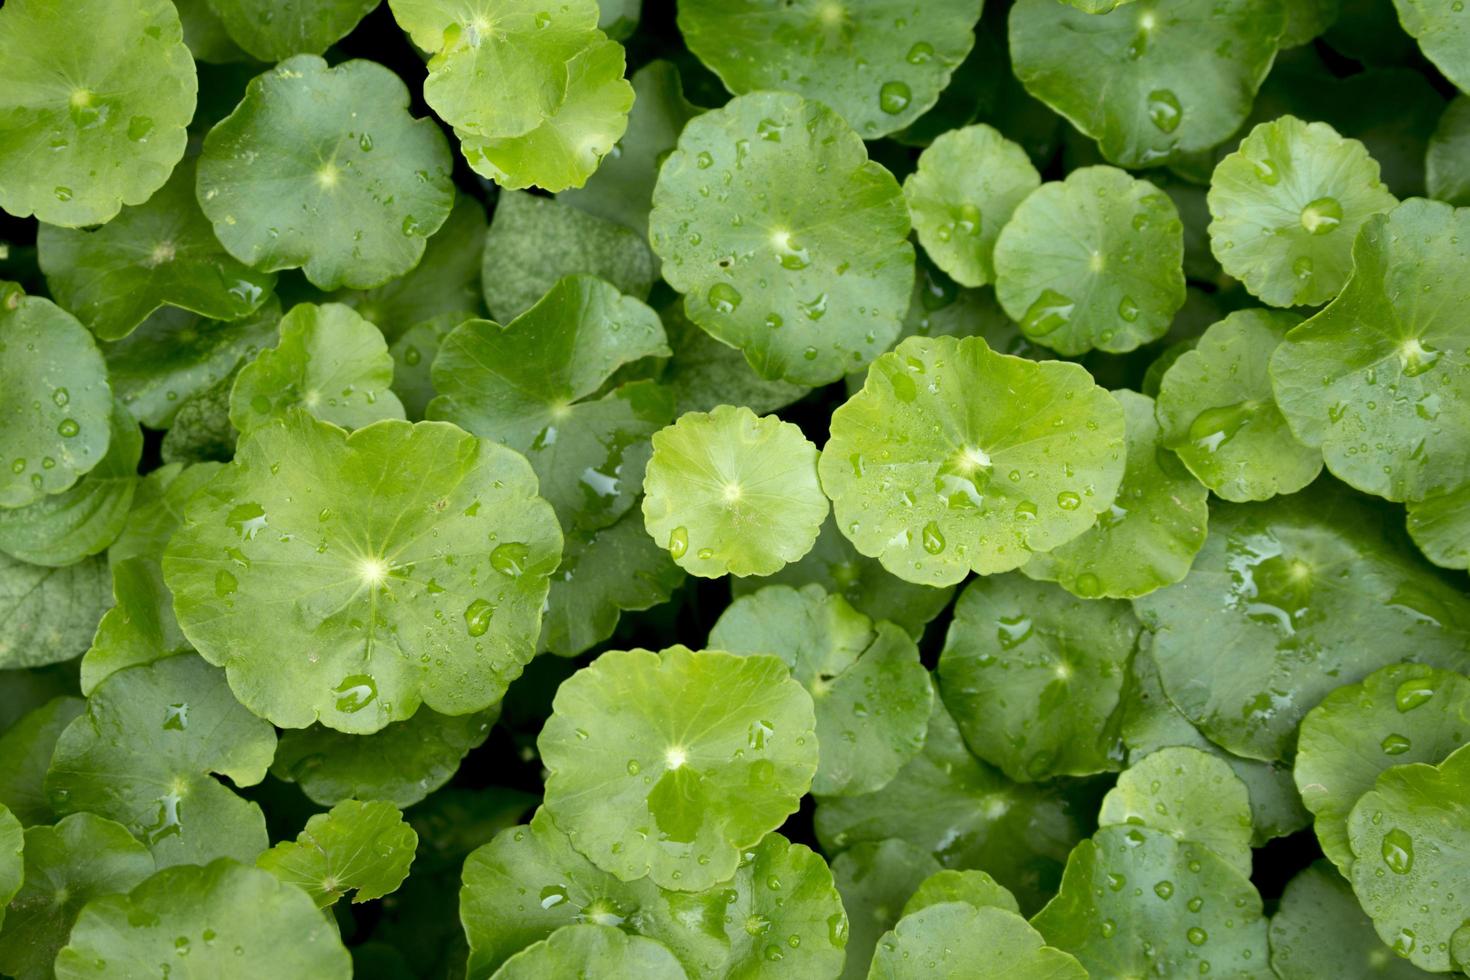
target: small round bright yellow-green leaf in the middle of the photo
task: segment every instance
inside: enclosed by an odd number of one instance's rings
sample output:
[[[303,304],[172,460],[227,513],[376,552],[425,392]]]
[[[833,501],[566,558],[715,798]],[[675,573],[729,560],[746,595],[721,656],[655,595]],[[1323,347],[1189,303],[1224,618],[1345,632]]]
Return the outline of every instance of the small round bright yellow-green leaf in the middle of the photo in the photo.
[[[826,519],[817,457],[776,416],[685,413],[653,436],[644,525],[691,574],[770,574],[807,554]]]

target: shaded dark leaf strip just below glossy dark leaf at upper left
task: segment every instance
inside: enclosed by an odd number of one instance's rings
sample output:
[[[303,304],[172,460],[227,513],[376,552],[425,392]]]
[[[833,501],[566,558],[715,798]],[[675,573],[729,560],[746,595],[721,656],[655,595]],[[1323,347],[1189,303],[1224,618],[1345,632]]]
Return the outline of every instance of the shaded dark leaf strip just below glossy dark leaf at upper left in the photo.
[[[126,338],[101,345],[107,379],[113,394],[143,425],[168,429],[184,404],[269,347],[279,322],[281,303],[275,297],[231,323],[165,307]]]

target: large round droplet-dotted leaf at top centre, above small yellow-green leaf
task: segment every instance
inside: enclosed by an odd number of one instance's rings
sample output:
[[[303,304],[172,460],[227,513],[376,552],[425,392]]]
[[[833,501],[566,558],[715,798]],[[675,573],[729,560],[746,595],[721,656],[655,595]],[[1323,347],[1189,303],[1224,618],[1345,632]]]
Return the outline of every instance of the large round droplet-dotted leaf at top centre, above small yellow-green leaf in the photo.
[[[892,342],[908,307],[898,181],[800,96],[754,93],[691,119],[648,222],[685,313],[763,378],[836,381]]]

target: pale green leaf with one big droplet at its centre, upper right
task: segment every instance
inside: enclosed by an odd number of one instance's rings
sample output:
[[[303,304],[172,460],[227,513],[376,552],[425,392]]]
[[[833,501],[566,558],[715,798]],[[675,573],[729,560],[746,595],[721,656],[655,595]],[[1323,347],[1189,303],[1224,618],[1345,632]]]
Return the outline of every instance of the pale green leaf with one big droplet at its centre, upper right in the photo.
[[[1398,204],[1367,147],[1295,116],[1251,129],[1216,166],[1208,200],[1211,251],[1270,306],[1338,295],[1358,229]]]

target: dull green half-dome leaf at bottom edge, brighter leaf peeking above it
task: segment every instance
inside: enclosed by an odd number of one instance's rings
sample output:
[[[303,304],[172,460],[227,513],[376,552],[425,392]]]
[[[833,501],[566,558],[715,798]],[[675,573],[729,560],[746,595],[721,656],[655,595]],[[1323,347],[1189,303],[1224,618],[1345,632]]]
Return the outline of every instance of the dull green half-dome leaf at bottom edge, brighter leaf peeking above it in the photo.
[[[935,971],[941,971],[935,974]],[[906,914],[878,943],[869,980],[933,976],[1086,980],[1070,954],[1045,945],[1026,920],[1003,908],[944,902]]]

